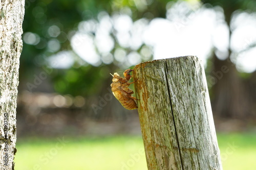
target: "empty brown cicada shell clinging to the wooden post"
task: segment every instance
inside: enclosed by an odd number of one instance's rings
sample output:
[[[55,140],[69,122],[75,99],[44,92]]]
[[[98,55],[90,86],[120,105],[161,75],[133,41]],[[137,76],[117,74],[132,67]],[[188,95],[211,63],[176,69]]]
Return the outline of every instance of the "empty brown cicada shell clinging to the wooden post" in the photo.
[[[129,88],[129,85],[134,83],[129,83],[129,80],[131,79],[132,75],[130,72],[133,71],[133,69],[126,69],[123,72],[124,78],[120,77],[117,72],[114,73],[113,76],[113,83],[111,84],[111,90],[116,97],[116,99],[122,104],[122,106],[125,109],[133,110],[137,109],[138,106],[135,102],[137,100],[135,97],[132,96],[134,93],[133,90]]]

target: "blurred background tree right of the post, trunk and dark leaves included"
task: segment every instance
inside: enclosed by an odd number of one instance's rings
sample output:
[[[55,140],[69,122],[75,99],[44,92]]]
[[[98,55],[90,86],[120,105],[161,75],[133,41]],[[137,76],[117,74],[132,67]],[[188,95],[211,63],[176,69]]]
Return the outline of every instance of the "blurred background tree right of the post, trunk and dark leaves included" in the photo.
[[[246,76],[246,78],[238,72],[234,61],[239,54],[232,51],[230,42],[232,33],[236,30],[236,28],[232,27],[234,16],[238,11],[246,11],[248,13],[255,12],[256,2],[249,0],[202,0],[202,3],[211,4],[212,6],[221,6],[223,8],[226,25],[229,29],[229,45],[226,58],[223,60],[216,55],[219,50],[218,47],[216,47],[215,53],[211,59],[213,62],[212,72],[215,72],[215,75],[212,76],[221,77],[218,83],[211,89],[211,94],[213,94],[212,109],[215,115],[220,117],[245,118],[252,115],[255,116],[256,71]],[[253,44],[249,44],[249,46],[252,47]],[[223,70],[223,66],[226,66],[228,69],[228,72],[225,74],[220,72]]]

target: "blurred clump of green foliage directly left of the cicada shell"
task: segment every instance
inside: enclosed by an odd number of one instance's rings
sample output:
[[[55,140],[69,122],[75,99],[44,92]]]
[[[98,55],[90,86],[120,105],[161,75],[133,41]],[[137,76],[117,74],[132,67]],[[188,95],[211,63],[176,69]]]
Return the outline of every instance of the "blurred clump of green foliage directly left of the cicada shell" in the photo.
[[[55,69],[52,75],[55,79],[54,89],[61,94],[69,92],[73,95],[93,95],[102,88],[102,82],[111,80],[109,72],[106,66],[99,68],[92,65]]]

